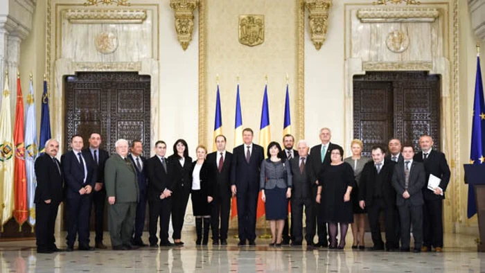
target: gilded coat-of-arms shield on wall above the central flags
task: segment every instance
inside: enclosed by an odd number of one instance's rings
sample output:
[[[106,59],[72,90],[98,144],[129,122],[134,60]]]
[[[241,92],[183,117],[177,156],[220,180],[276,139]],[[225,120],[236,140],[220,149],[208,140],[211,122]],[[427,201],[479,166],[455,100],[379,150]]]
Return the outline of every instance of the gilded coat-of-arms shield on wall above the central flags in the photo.
[[[246,46],[265,42],[265,15],[239,15],[239,42]]]

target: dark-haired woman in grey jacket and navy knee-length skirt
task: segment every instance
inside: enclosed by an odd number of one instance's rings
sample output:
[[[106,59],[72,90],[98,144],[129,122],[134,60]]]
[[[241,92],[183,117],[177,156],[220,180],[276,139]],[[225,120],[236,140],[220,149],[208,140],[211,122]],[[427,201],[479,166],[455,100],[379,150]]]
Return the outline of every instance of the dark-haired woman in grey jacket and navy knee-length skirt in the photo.
[[[284,154],[283,154],[284,155]],[[272,141],[267,146],[267,159],[261,162],[259,186],[261,199],[265,202],[266,220],[270,221],[272,242],[281,246],[283,227],[288,218],[288,198],[291,197],[292,173],[290,162],[281,158],[281,146]],[[276,235],[278,226],[278,235]]]

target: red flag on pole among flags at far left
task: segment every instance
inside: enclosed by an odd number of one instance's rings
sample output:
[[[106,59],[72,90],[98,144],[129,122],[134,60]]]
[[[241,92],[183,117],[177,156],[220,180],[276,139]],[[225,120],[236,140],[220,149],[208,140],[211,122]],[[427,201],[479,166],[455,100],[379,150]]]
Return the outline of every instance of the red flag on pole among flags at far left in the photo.
[[[15,143],[15,173],[14,195],[15,209],[13,217],[19,223],[19,229],[28,218],[27,208],[27,175],[25,170],[24,144],[24,97],[20,87],[20,77],[17,76],[17,108],[15,109],[15,129],[13,132]]]

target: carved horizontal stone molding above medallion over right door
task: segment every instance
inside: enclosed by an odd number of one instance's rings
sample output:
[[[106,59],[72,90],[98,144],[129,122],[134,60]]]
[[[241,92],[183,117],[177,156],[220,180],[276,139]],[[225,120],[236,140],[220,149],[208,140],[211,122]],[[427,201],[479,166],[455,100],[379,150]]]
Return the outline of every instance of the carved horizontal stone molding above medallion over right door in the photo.
[[[436,8],[361,8],[357,17],[362,23],[432,22],[439,17]]]

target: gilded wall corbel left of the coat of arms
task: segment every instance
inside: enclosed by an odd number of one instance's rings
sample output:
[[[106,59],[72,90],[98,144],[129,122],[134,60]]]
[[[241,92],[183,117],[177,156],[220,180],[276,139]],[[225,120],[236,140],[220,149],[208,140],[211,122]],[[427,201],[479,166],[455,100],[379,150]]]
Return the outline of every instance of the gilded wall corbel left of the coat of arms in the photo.
[[[192,41],[194,29],[194,10],[197,8],[197,0],[170,0],[170,8],[175,10],[175,30],[177,39],[184,51]]]

